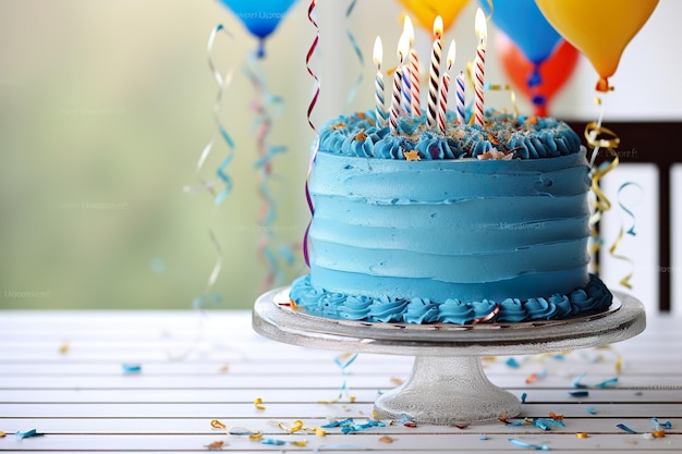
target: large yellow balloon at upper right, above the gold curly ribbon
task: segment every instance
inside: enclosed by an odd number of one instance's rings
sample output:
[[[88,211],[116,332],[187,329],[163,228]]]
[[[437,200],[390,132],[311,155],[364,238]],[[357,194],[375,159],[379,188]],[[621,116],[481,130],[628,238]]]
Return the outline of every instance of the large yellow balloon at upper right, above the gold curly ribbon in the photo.
[[[649,19],[658,0],[535,0],[567,41],[577,48],[599,74],[597,90],[609,89],[628,42]]]

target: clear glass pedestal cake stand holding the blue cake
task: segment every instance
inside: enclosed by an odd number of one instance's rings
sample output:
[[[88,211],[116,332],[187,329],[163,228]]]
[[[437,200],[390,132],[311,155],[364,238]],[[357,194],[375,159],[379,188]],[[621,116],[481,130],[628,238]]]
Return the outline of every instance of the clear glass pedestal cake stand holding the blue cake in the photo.
[[[407,324],[333,320],[289,305],[289,287],[260,295],[252,323],[260,335],[288,344],[353,353],[414,356],[410,378],[375,402],[380,419],[409,418],[450,426],[521,413],[512,393],[492,384],[482,356],[527,355],[604,346],[637,335],[646,326],[642,303],[613,293],[599,314],[521,323]]]

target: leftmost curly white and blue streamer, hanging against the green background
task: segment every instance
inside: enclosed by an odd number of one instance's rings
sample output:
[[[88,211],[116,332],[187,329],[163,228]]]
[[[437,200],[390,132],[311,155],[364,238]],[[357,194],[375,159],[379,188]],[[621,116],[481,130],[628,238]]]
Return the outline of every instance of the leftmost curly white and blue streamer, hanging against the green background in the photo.
[[[224,73],[224,75],[221,74],[216,69],[216,64],[214,63],[214,59],[212,59],[214,44],[216,41],[218,34],[221,32],[224,35],[227,35],[229,38],[233,38],[232,34],[230,34],[230,32],[228,32],[223,27],[222,24],[219,24],[211,30],[208,37],[208,44],[207,44],[208,66],[214,78],[216,79],[216,83],[218,84],[218,91],[216,95],[216,100],[214,102],[214,122],[216,123],[216,130],[214,131],[214,134],[211,135],[210,139],[208,140],[204,149],[202,150],[202,154],[199,155],[199,159],[196,163],[195,172],[197,174],[199,184],[196,186],[185,186],[183,188],[183,192],[190,193],[190,194],[208,191],[214,197],[214,201],[215,201],[214,212],[211,216],[212,218],[215,218],[217,206],[220,205],[226,199],[228,194],[230,194],[230,192],[232,191],[232,180],[227,174],[226,169],[229,165],[229,163],[232,161],[232,158],[234,156],[234,142],[230,137],[230,134],[228,134],[228,131],[222,125],[221,120],[220,120],[220,103],[222,99],[222,94],[232,83],[233,71],[232,71],[232,68],[230,68]],[[202,177],[202,170],[204,168],[204,164],[206,163],[206,160],[208,159],[208,156],[210,155],[210,151],[214,148],[216,138],[218,136],[222,137],[223,142],[227,144],[228,154],[223,158],[220,165],[218,167],[218,170],[216,172],[218,177],[211,181],[205,181]],[[224,185],[224,188],[220,193],[216,193],[215,186],[217,186],[220,183]],[[208,229],[208,236],[216,251],[216,262],[214,265],[212,270],[209,273],[208,281],[206,283],[205,294],[208,294],[210,289],[214,286],[214,284],[216,283],[218,279],[218,275],[220,274],[220,270],[222,268],[222,249],[220,247],[220,244],[218,242],[216,234],[214,233],[212,228],[210,226],[210,223],[209,223],[209,229]],[[204,303],[204,299],[205,298],[203,296],[195,298],[194,306],[200,307]]]

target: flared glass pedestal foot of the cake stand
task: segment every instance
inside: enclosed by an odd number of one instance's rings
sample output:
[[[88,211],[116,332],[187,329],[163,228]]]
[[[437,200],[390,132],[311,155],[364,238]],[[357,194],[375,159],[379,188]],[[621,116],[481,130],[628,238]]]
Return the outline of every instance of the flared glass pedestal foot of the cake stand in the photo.
[[[379,419],[451,426],[515,417],[521,402],[492,384],[478,356],[416,356],[410,378],[375,402]]]

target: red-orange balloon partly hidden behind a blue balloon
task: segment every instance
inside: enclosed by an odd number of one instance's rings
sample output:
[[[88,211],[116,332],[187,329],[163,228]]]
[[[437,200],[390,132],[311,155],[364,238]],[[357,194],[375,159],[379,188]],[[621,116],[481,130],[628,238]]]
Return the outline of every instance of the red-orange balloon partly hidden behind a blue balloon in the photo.
[[[579,52],[570,42],[561,39],[557,49],[538,66],[539,81],[533,85],[535,64],[528,61],[519,47],[501,30],[496,34],[496,53],[512,85],[533,102],[534,114],[547,116],[548,103],[571,78],[577,65]]]

